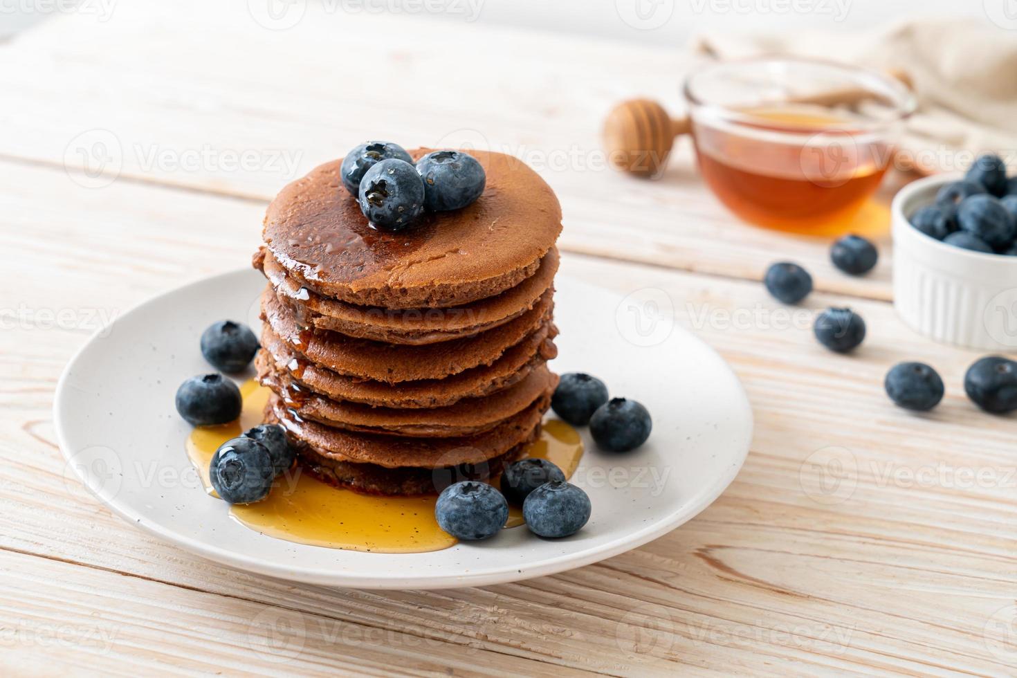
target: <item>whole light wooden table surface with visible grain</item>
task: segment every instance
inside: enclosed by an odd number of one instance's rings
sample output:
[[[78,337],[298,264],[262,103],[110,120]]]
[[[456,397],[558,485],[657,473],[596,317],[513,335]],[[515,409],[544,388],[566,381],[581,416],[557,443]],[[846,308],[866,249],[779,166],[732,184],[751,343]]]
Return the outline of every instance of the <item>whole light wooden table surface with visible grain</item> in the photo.
[[[847,278],[827,242],[733,220],[686,147],[656,182],[603,169],[612,103],[638,94],[678,108],[679,50],[336,3],[277,30],[248,4],[121,0],[0,48],[5,674],[1014,671],[1015,420],[965,399],[976,354],[894,315],[889,243],[873,274]],[[561,199],[563,272],[669,295],[756,413],[749,459],[714,505],[571,572],[372,593],[206,562],[66,475],[53,389],[88,333],[244,265],[285,182],[373,137],[524,158]],[[776,258],[812,270],[806,311],[788,315],[758,283]],[[812,337],[811,313],[832,304],[869,323],[854,356]],[[935,413],[887,400],[884,374],[904,359],[942,373]]]

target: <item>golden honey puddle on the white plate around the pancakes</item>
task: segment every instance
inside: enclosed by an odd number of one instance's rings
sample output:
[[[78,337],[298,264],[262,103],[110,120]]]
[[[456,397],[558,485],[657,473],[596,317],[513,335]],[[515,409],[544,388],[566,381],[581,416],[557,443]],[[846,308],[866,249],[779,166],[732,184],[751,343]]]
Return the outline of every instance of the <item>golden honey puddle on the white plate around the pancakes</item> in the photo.
[[[253,379],[244,383],[240,392],[244,407],[238,421],[195,428],[187,437],[187,456],[214,497],[218,495],[208,481],[212,455],[230,438],[260,424],[268,400],[268,389]],[[522,456],[553,461],[571,478],[583,456],[583,442],[576,429],[550,420]],[[496,487],[498,479],[491,482]],[[375,553],[424,553],[446,549],[457,541],[438,528],[436,501],[437,496],[382,497],[338,489],[301,473],[298,467],[276,479],[263,501],[233,505],[230,514],[251,530],[299,544]],[[521,525],[523,512],[510,506],[505,527]]]

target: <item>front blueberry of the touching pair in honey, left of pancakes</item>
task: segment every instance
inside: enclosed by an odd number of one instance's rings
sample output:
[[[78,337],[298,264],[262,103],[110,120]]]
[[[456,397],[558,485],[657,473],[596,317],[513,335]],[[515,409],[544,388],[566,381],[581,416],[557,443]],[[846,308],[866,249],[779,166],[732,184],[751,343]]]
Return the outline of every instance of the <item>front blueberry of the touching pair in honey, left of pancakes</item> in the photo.
[[[230,438],[216,450],[208,465],[212,486],[231,504],[261,501],[276,477],[267,448],[253,438]]]

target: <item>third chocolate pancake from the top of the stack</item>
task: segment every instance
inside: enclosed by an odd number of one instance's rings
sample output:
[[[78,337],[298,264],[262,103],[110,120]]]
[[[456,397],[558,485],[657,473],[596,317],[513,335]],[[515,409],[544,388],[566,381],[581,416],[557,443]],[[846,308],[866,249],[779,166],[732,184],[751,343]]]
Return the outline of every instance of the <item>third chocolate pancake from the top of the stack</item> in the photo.
[[[301,329],[271,285],[261,297],[261,312],[272,330],[310,362],[340,374],[399,383],[442,379],[490,365],[550,317],[552,297],[553,290],[548,290],[523,315],[476,336],[419,347],[381,344],[326,329]]]

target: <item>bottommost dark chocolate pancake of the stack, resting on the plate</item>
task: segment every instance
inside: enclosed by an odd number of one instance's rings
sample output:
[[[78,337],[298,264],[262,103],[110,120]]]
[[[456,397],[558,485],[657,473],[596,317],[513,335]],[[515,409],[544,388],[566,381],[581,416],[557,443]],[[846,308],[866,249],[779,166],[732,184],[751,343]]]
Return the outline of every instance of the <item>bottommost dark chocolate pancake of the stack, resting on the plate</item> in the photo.
[[[278,424],[279,418],[270,405],[265,410],[265,423]],[[531,442],[540,434],[540,427],[534,429]],[[453,483],[462,480],[487,480],[504,471],[523,452],[526,443],[516,445],[504,454],[487,459],[482,464],[464,464],[440,469],[400,467],[387,469],[376,464],[354,464],[342,461],[323,453],[306,442],[290,436],[290,442],[297,451],[297,463],[301,470],[318,480],[366,494],[414,495],[440,492]]]

